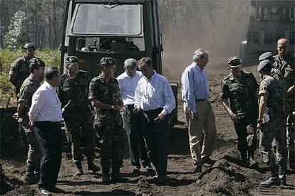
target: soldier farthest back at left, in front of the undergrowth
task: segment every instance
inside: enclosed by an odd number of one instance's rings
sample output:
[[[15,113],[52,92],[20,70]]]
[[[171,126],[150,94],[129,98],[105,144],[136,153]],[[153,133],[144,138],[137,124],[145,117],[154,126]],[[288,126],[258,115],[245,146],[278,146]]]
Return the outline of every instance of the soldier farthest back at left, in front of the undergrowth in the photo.
[[[24,56],[16,59],[12,62],[9,71],[9,81],[14,85],[16,98],[19,99],[19,90],[26,77],[30,75],[29,61],[34,57],[35,46],[32,43],[26,43],[24,45]],[[26,143],[26,134],[19,124],[19,144],[24,146]]]

